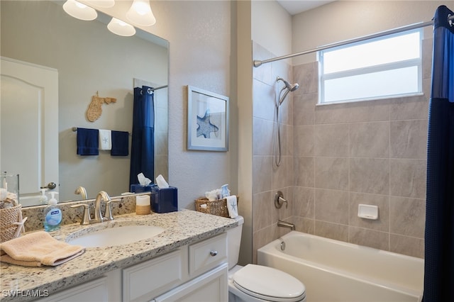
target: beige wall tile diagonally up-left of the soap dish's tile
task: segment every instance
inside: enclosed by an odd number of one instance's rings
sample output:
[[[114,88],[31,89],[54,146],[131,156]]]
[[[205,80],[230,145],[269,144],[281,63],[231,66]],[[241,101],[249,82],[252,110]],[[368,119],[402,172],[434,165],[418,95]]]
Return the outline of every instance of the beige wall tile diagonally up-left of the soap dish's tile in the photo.
[[[348,158],[316,157],[315,187],[348,190]]]

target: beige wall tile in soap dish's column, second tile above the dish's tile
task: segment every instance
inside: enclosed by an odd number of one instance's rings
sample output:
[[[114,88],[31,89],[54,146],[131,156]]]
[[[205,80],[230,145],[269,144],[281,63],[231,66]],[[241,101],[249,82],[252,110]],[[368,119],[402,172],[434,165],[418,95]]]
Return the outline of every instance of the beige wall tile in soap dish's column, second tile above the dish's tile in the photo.
[[[350,123],[351,157],[389,157],[389,123]]]

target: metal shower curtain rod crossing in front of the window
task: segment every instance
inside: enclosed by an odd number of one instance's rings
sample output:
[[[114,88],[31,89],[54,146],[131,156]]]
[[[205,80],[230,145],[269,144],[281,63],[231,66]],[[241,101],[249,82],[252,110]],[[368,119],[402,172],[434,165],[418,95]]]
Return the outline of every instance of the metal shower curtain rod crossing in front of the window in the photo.
[[[452,21],[454,23],[454,16],[448,16],[448,21],[449,22]],[[351,43],[357,43],[357,42],[361,42],[361,41],[364,41],[364,40],[370,40],[370,39],[373,39],[373,38],[380,38],[380,37],[383,37],[384,35],[392,35],[394,33],[402,33],[402,31],[405,31],[405,30],[423,28],[423,27],[432,26],[432,25],[433,25],[433,21],[415,23],[415,24],[411,24],[409,26],[403,26],[403,27],[394,28],[394,29],[391,29],[391,30],[385,30],[385,31],[382,31],[380,33],[374,33],[372,35],[365,35],[365,36],[362,36],[360,38],[354,38],[354,39],[350,39],[350,40],[344,40],[344,41],[341,41],[341,42],[338,42],[338,43],[323,45],[323,46],[316,47],[316,48],[311,49],[311,50],[306,50],[306,51],[303,51],[303,52],[293,53],[291,55],[283,55],[281,57],[273,57],[273,58],[267,59],[267,60],[254,60],[253,64],[254,64],[254,67],[259,67],[260,65],[265,64],[265,63],[269,63],[269,62],[275,62],[275,61],[279,61],[279,60],[289,59],[290,57],[297,57],[299,55],[307,55],[307,54],[309,54],[311,52],[318,52],[320,50],[327,50],[327,49],[333,48],[333,47],[343,46],[343,45],[347,45],[347,44],[351,44]]]

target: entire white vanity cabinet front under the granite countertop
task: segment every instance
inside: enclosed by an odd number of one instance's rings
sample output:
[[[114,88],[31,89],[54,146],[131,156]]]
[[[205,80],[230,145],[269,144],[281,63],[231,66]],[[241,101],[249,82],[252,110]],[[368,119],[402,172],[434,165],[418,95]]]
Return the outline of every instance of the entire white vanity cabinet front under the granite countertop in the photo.
[[[228,301],[227,275],[227,235],[222,233],[40,301]]]

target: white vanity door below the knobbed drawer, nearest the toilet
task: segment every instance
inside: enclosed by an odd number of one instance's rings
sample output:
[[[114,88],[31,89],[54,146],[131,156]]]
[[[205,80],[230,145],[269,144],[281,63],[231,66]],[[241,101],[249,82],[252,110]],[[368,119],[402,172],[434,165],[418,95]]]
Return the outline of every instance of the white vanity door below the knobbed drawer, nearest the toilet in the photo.
[[[216,269],[202,274],[191,281],[178,286],[172,291],[155,298],[155,302],[227,302],[228,264],[221,264]]]

